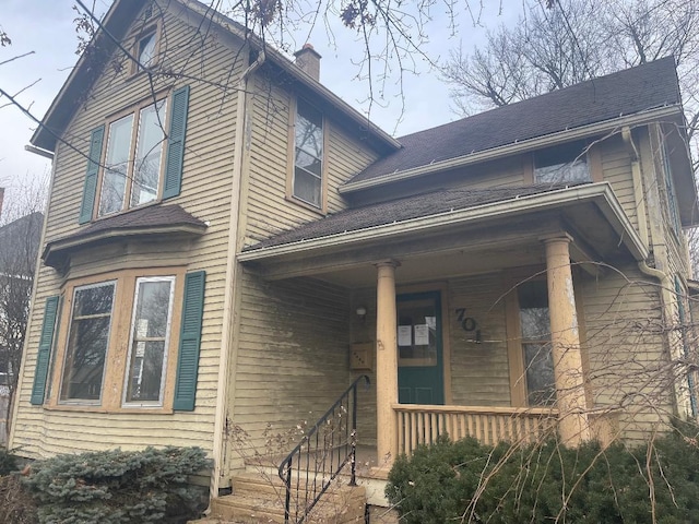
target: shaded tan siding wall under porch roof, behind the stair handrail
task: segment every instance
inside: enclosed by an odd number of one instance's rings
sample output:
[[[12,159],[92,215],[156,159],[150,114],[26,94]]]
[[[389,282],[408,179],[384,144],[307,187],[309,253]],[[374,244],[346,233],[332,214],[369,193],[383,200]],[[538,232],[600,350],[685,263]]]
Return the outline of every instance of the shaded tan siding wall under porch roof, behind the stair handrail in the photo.
[[[244,448],[251,452],[263,450],[268,425],[315,424],[348,385],[350,296],[310,278],[264,282],[245,270],[240,277],[228,417],[250,433]]]

